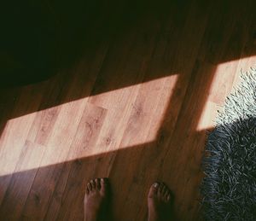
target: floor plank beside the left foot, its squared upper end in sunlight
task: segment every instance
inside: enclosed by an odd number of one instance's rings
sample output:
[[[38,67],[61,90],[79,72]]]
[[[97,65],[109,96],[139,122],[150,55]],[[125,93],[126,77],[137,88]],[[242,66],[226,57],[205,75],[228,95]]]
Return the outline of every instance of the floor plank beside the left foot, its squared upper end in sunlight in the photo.
[[[81,189],[84,188],[84,185],[79,187],[78,183],[81,183],[84,177],[90,177],[91,174],[87,174],[84,171],[83,174],[79,174],[74,168],[77,168],[79,158],[94,155],[97,151],[102,150],[101,146],[96,148],[95,143],[107,113],[108,111],[106,109],[87,103],[67,156],[69,162],[64,163],[61,178],[56,184],[55,192],[49,203],[48,212],[44,219],[55,220],[58,214],[60,214],[59,219],[72,220],[75,217],[74,212],[78,207],[77,203],[79,202],[79,205],[82,206],[80,201],[78,201],[78,195],[81,195],[81,191],[84,191],[84,189]],[[74,161],[72,162],[71,160]],[[72,172],[72,174],[70,174],[70,172]],[[69,176],[73,178],[70,179]],[[76,184],[74,185],[74,183]],[[59,212],[59,210],[61,210],[61,212]],[[81,211],[79,210],[79,212]],[[81,215],[83,216],[83,212]]]

